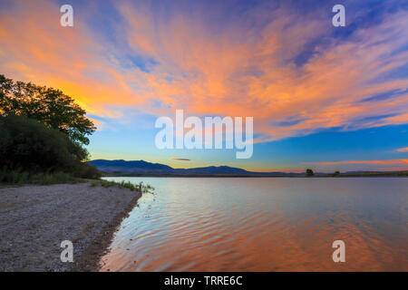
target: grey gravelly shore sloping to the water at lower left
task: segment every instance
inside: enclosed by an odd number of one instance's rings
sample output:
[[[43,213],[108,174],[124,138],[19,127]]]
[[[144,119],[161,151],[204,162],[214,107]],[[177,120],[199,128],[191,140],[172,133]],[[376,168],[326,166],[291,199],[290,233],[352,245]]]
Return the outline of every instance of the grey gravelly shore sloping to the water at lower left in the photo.
[[[90,183],[0,188],[0,271],[93,271],[141,194]],[[73,263],[61,262],[63,240]]]

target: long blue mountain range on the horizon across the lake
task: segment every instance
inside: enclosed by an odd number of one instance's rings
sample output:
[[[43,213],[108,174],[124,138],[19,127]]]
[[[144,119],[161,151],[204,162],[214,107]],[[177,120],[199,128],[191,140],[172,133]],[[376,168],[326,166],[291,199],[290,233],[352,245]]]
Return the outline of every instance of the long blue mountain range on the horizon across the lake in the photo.
[[[88,162],[97,169],[108,174],[126,175],[235,175],[235,176],[300,176],[302,173],[285,172],[252,172],[229,166],[209,166],[194,169],[173,169],[160,163],[151,163],[144,160],[92,160]]]

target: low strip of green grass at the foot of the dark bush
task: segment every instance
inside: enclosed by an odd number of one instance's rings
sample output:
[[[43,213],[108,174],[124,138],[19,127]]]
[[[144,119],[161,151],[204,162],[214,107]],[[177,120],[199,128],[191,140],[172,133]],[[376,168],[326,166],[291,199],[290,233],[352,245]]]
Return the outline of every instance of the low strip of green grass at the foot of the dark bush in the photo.
[[[72,175],[64,172],[41,172],[32,173],[20,170],[0,169],[0,185],[41,184],[50,185],[57,183],[77,183],[82,179],[74,178]]]

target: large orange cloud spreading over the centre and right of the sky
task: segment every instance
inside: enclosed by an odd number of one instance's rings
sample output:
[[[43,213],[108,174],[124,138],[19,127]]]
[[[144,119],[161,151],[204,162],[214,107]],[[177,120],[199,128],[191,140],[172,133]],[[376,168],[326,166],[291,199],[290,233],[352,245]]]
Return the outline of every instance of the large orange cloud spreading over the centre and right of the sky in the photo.
[[[265,135],[263,141],[329,127],[358,129],[408,122],[403,116],[408,93],[393,102],[360,103],[376,93],[408,87],[407,80],[367,84],[408,60],[408,53],[387,54],[403,45],[408,36],[401,28],[408,24],[406,14],[392,15],[383,25],[322,48],[298,69],[293,63],[282,63],[322,33],[317,20],[298,21],[297,15],[278,11],[270,24],[257,32],[261,37],[234,27],[213,35],[199,19],[177,14],[169,22],[157,24],[140,8],[123,5],[121,12],[131,27],[127,39],[134,52],[163,63],[149,75],[151,93],[145,94],[146,99],[170,105],[170,109],[154,110],[158,114],[186,108],[198,115],[254,116],[255,130]],[[384,34],[390,30],[394,37]],[[173,73],[170,81],[164,72]],[[393,117],[355,122],[376,115]],[[280,127],[271,123],[294,116],[303,121]]]

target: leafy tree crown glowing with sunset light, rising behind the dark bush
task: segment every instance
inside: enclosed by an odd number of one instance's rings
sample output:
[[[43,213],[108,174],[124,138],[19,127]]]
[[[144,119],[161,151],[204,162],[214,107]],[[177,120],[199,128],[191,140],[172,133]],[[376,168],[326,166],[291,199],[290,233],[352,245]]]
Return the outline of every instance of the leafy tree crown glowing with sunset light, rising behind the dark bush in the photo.
[[[35,119],[83,145],[89,144],[86,136],[96,130],[85,117],[86,111],[62,91],[32,82],[14,82],[3,74],[0,74],[0,114]]]

